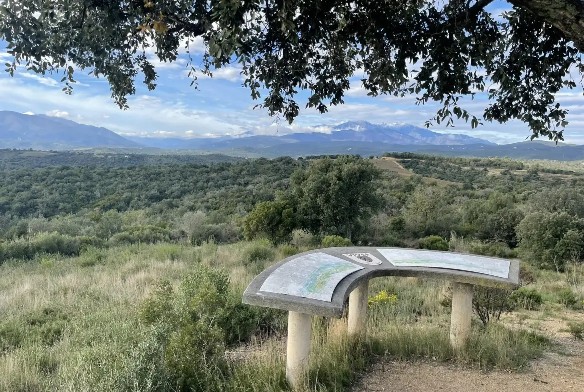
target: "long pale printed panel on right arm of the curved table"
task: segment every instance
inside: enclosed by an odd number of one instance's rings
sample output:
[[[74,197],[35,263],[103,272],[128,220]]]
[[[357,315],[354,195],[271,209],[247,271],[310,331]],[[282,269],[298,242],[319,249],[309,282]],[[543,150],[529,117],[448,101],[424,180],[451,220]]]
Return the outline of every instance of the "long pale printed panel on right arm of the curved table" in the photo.
[[[377,250],[390,263],[397,266],[447,268],[505,278],[509,276],[510,262],[503,259],[419,249],[378,248]]]

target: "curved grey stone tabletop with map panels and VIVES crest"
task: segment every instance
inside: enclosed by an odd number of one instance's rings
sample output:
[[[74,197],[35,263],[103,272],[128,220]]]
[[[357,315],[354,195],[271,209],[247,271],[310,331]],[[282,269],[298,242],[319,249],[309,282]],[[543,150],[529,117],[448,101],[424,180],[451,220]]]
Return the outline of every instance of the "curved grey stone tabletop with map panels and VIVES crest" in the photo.
[[[264,270],[245,290],[243,302],[341,317],[353,289],[378,276],[430,277],[514,289],[519,283],[519,261],[423,249],[315,249]]]

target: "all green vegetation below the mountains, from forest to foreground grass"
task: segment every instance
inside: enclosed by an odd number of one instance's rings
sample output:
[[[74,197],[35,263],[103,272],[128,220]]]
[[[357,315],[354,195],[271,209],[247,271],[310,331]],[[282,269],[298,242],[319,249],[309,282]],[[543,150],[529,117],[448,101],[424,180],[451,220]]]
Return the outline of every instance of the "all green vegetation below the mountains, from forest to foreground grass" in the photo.
[[[578,169],[387,154],[1,170],[0,390],[288,391],[286,313],[242,293],[283,258],[350,244],[519,257],[522,287],[475,287],[482,322],[454,351],[448,283],[371,280],[362,345],[314,318],[301,391],[345,390],[388,355],[524,370],[564,349],[543,318],[584,333]]]

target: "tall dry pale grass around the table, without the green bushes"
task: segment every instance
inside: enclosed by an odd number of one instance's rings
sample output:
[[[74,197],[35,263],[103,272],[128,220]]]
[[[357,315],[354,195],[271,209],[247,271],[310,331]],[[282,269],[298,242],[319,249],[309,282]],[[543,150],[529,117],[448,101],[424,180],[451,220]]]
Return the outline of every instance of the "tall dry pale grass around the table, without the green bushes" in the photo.
[[[155,282],[168,278],[178,285],[182,275],[206,265],[224,269],[232,292],[241,295],[256,273],[305,249],[263,241],[131,245],[91,249],[78,258],[6,263],[0,266],[0,391],[120,391],[117,370],[137,366],[137,352],[148,347],[152,336],[138,320],[137,307]],[[556,278],[542,275],[536,285],[544,289]],[[367,335],[357,340],[347,337],[346,320],[313,317],[310,379],[304,390],[342,390],[372,354],[454,358],[449,308],[440,305],[444,285],[428,279],[374,279],[372,296],[385,290],[398,299],[374,304]],[[264,334],[252,343],[251,354],[232,361],[225,390],[287,390],[283,340]],[[528,332],[502,325],[484,330],[475,324],[457,360],[485,368],[523,367],[549,345]]]

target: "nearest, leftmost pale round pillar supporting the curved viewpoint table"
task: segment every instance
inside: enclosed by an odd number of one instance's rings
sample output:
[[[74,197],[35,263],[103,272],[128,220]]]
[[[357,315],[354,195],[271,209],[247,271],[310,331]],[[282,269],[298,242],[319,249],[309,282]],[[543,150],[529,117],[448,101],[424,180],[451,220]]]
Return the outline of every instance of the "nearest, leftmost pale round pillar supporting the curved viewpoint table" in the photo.
[[[286,380],[293,388],[301,386],[308,376],[311,329],[311,314],[288,311]]]

